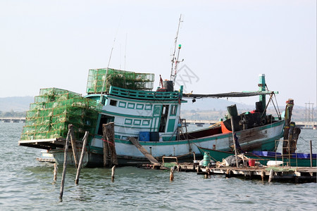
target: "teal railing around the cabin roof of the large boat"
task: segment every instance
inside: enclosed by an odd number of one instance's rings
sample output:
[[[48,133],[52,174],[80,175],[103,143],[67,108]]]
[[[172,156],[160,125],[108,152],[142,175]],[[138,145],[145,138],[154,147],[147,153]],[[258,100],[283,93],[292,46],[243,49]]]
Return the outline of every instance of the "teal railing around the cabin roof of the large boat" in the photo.
[[[178,100],[182,98],[182,91],[141,91],[110,87],[109,94],[125,98],[137,98],[144,100]]]

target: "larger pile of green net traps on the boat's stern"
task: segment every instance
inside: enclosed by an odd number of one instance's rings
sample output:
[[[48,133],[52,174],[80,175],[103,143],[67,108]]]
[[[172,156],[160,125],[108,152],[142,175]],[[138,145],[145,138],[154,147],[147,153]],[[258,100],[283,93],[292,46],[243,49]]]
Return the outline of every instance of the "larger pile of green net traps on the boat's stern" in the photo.
[[[21,140],[66,138],[68,124],[74,125],[77,139],[85,131],[94,134],[100,106],[72,91],[41,89],[27,111]]]

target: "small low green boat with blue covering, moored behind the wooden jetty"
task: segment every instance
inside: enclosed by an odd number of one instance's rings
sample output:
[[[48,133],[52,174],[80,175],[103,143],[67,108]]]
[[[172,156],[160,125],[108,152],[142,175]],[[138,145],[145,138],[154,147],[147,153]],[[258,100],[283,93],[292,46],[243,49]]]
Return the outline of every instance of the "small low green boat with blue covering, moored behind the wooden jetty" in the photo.
[[[228,151],[218,151],[211,148],[198,147],[201,153],[209,153],[211,159],[214,161],[222,162],[223,159],[228,158],[235,153]],[[281,165],[287,165],[292,167],[311,167],[311,158],[312,166],[316,167],[316,153],[313,153],[312,156],[309,153],[290,153],[287,155],[282,155],[281,153],[272,152],[272,151],[251,151],[244,152],[244,155],[247,158],[254,159],[261,163],[261,165],[267,165],[268,161],[280,161]]]

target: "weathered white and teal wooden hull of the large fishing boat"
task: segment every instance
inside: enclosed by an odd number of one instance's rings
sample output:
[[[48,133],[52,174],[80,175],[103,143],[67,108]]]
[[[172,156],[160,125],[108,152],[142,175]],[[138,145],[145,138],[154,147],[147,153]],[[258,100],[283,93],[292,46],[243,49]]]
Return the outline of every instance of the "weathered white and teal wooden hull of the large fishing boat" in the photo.
[[[274,151],[278,146],[278,139],[282,137],[284,121],[267,124],[261,127],[245,129],[237,132],[240,145],[244,151],[249,149],[258,151]],[[101,136],[94,136],[90,146],[87,147],[87,166],[103,165],[103,141]],[[137,165],[149,163],[149,160],[130,141],[115,139],[116,154],[119,165]],[[220,151],[232,150],[232,133],[205,136],[199,139],[180,141],[139,141],[139,143],[154,156],[161,160],[163,156],[177,156],[179,161],[192,161],[195,153],[197,159],[202,158],[198,147],[216,148]],[[56,158],[56,153],[51,151]],[[56,158],[62,162],[61,155]],[[70,160],[69,162],[71,162]]]

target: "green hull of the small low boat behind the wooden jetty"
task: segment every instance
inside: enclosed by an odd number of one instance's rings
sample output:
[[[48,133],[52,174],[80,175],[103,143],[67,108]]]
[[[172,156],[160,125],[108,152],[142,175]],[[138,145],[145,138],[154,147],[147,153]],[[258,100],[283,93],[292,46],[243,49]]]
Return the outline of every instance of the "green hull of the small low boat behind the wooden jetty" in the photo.
[[[201,153],[205,153],[205,152],[209,153],[212,160],[220,161],[220,162],[222,162],[223,159],[229,157],[230,155],[235,155],[235,153],[232,153],[232,152],[217,151],[217,150],[213,150],[209,148],[199,148],[199,151]],[[267,165],[268,161],[273,160],[273,161],[282,161],[283,165],[289,165],[292,167],[311,167],[310,158],[300,158],[301,155],[303,155],[303,153],[297,153],[291,156],[285,155],[284,158],[282,158],[282,155],[275,155],[275,152],[263,152],[263,153],[266,153],[268,155],[261,156],[251,152],[244,153],[244,155],[247,156],[247,158],[252,158],[256,160],[257,162],[260,162],[262,165]],[[269,155],[270,153],[272,155]],[[316,167],[316,154],[313,156],[312,161],[313,161],[313,167]]]

